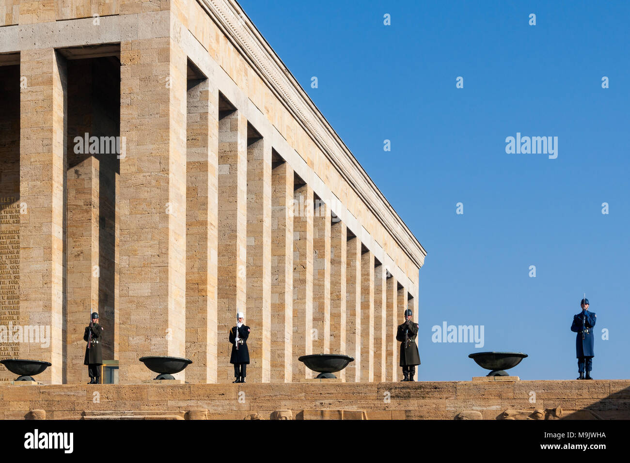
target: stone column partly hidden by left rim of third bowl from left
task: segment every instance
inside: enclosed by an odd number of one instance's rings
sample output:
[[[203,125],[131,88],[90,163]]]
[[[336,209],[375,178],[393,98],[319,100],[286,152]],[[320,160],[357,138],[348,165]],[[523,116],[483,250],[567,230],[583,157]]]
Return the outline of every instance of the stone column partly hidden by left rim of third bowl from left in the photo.
[[[293,223],[293,380],[311,378],[312,372],[297,360],[312,353],[313,313],[313,190],[294,191]]]

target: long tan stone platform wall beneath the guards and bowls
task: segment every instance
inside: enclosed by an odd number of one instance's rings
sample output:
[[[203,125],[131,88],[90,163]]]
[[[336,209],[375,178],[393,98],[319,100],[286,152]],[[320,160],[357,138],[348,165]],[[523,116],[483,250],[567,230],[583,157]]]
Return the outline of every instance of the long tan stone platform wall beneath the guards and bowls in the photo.
[[[47,420],[268,420],[276,410],[297,419],[630,419],[630,380],[0,386],[1,419],[31,410]]]

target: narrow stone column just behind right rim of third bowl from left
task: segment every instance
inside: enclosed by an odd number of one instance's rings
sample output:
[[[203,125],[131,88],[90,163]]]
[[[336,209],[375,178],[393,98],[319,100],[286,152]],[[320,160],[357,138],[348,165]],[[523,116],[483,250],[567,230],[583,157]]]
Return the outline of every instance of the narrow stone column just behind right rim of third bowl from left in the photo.
[[[346,367],[348,382],[361,381],[361,241],[348,237],[346,243],[346,355],[354,357]]]

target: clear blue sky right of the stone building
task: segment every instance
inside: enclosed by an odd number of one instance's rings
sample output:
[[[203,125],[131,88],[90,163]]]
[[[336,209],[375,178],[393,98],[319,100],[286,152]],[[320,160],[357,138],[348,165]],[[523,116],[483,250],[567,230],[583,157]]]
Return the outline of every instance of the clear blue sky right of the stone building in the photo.
[[[575,379],[583,292],[593,377],[630,378],[630,2],[240,3],[428,251],[416,379],[485,375],[482,351]],[[507,154],[517,132],[558,137],[557,159]],[[444,321],[483,325],[485,345],[433,343]]]

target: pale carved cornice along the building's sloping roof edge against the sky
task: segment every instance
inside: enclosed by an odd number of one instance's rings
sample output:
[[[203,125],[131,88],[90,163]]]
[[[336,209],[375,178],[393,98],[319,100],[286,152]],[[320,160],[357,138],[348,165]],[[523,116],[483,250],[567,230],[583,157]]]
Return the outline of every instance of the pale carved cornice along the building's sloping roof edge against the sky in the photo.
[[[391,236],[396,239],[399,246],[418,267],[422,266],[427,251],[396,214],[381,190],[365,173],[364,168],[297,83],[295,77],[266,42],[238,2],[236,0],[199,1],[232,45],[239,50],[287,110],[294,115],[295,120],[318,144],[321,151],[352,186],[358,197],[362,198],[365,205],[372,210]]]

